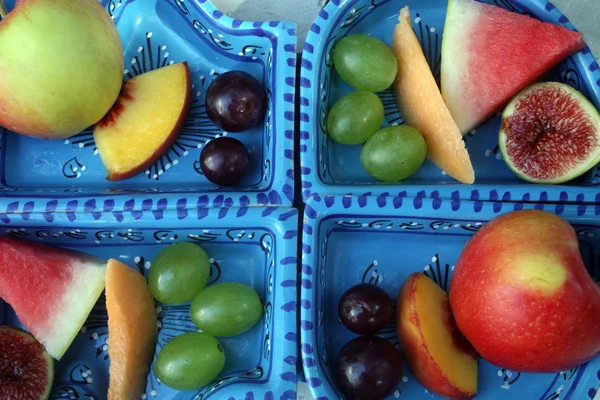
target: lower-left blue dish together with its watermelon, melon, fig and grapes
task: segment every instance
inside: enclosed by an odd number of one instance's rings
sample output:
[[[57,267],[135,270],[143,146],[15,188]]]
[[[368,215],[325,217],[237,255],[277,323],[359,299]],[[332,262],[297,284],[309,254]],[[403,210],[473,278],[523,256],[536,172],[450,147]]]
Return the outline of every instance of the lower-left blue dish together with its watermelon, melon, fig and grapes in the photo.
[[[205,211],[11,225],[0,398],[293,399],[297,212]],[[26,325],[47,352],[5,325]]]

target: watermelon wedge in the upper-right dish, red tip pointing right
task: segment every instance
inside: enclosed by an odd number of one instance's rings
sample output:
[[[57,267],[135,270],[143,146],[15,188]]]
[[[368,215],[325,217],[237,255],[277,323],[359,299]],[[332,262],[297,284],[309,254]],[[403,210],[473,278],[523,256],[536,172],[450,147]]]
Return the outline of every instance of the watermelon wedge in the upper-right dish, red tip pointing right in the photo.
[[[449,0],[442,96],[464,135],[584,47],[578,32],[475,0]]]

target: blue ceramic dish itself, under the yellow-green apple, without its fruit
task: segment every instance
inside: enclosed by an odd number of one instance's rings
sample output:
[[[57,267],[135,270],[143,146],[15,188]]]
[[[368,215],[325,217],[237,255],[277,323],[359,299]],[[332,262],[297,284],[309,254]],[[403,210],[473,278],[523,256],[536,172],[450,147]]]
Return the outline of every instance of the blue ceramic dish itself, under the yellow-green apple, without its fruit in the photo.
[[[8,0],[9,9],[14,0]],[[170,150],[145,173],[120,182],[106,170],[88,129],[69,140],[43,141],[0,128],[0,192],[6,197],[112,198],[152,192],[169,205],[185,193],[218,196],[231,205],[291,205],[296,76],[296,29],[288,22],[245,22],[221,13],[208,0],[101,0],[115,21],[125,53],[127,80],[162,66],[187,61],[193,78],[190,114]],[[222,135],[207,117],[205,93],[219,73],[242,69],[262,82],[268,96],[264,121],[236,134],[248,147],[251,167],[237,186],[221,188],[201,172],[201,147]],[[190,198],[193,196],[190,196]],[[197,198],[197,196],[196,196]],[[31,203],[44,211],[46,202]],[[58,208],[66,208],[59,201]],[[139,205],[139,204],[138,204]],[[136,205],[136,207],[138,206]],[[0,201],[0,210],[7,203]]]

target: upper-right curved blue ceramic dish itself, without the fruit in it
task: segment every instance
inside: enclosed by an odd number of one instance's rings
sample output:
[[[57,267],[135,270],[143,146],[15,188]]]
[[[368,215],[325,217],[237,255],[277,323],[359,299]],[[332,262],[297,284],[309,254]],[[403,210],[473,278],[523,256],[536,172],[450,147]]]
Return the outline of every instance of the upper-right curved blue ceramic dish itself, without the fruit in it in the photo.
[[[574,29],[573,25],[546,0],[483,0],[516,12],[525,12],[543,21]],[[439,197],[462,200],[523,202],[600,201],[600,172],[594,169],[581,179],[560,186],[532,185],[519,180],[502,160],[498,150],[500,118],[496,117],[467,135],[466,144],[475,168],[475,185],[459,184],[444,175],[430,161],[408,180],[398,184],[377,184],[359,163],[360,146],[344,146],[328,140],[326,117],[329,108],[351,88],[334,71],[331,51],[337,40],[349,34],[370,34],[391,42],[399,9],[408,5],[413,27],[424,53],[434,65],[439,82],[442,33],[447,1],[332,0],[321,11],[304,45],[300,80],[300,154],[302,190],[311,194],[406,193],[411,197]],[[549,76],[582,91],[600,108],[600,68],[590,49],[562,62]],[[380,97],[386,106],[385,124],[402,123],[391,90]]]

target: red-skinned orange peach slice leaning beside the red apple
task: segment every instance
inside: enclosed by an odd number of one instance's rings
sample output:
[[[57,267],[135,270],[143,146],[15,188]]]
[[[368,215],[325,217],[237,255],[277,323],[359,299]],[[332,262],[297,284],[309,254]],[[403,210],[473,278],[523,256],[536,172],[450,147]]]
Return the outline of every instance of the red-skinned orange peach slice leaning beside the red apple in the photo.
[[[397,333],[404,360],[429,391],[452,399],[477,393],[477,354],[454,322],[448,296],[422,273],[398,295]]]

